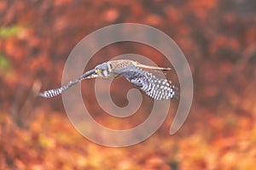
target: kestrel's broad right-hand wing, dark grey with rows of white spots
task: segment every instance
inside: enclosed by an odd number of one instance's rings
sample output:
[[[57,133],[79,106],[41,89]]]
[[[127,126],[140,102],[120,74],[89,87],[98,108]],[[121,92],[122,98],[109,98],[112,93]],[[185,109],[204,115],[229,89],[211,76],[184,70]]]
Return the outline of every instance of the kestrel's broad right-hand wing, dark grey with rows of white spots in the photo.
[[[152,73],[136,66],[129,66],[117,72],[153,99],[173,99],[178,96],[177,88],[172,85],[172,82],[157,78]]]

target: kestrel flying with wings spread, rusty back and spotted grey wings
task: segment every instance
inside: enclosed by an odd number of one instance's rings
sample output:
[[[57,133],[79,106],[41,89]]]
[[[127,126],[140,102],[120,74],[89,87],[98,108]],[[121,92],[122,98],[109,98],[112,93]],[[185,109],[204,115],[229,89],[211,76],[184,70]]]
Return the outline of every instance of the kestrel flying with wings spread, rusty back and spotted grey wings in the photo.
[[[62,94],[68,88],[71,88],[73,85],[84,79],[96,77],[110,79],[121,75],[153,99],[162,100],[178,97],[177,88],[172,85],[171,81],[164,78],[157,78],[152,73],[146,71],[147,69],[160,71],[171,70],[171,68],[143,65],[131,59],[110,60],[100,65],[96,65],[94,69],[86,71],[81,77],[73,82],[68,82],[61,88],[50,89],[39,93],[38,96],[52,98]]]

